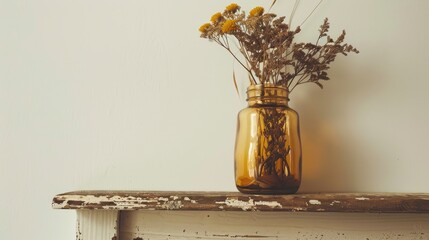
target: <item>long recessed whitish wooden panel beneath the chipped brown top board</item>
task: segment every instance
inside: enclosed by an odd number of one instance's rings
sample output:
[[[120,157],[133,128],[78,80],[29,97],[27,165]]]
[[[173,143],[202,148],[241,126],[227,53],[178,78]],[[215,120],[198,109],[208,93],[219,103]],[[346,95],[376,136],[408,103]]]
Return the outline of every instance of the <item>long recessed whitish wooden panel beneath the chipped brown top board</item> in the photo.
[[[122,211],[121,240],[429,240],[428,214]]]

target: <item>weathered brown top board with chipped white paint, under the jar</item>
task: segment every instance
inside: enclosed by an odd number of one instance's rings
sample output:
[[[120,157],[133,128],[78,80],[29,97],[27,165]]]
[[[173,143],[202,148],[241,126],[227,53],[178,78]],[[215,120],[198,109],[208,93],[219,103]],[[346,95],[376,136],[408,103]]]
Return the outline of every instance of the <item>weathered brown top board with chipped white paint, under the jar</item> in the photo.
[[[429,194],[79,191],[55,196],[52,206],[105,210],[429,213]]]

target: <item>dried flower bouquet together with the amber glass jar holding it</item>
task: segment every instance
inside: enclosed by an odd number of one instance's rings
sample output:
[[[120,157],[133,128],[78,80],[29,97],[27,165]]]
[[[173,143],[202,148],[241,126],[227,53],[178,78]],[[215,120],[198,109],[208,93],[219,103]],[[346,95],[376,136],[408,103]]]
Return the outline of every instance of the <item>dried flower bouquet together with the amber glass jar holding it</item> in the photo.
[[[271,7],[275,3],[273,0]],[[291,29],[290,22],[284,22],[285,17],[264,11],[258,6],[246,15],[240,6],[232,3],[223,12],[215,13],[210,23],[199,29],[202,38],[222,46],[246,69],[250,85],[260,85],[257,87],[261,89],[274,87],[287,91],[287,94],[304,83],[315,83],[323,88],[321,81],[329,79],[329,64],[338,54],[359,53],[352,45],[344,43],[345,31],[335,40],[328,35],[327,18],[320,26],[315,43],[297,43],[294,38],[301,31],[299,26]],[[234,46],[241,56],[234,52]],[[235,79],[233,73],[238,92]],[[264,94],[271,96],[275,93],[262,90],[261,96]],[[282,97],[288,100],[287,94]],[[243,131],[256,129],[257,137],[242,137],[241,140],[237,137],[236,186],[245,193],[294,193],[301,181],[298,115],[288,107],[269,104],[239,113],[239,121],[240,114],[246,117],[238,123],[238,128],[243,126],[246,129]],[[258,116],[254,123],[248,120],[253,113]],[[252,124],[256,128],[252,128]],[[237,164],[240,167],[237,168]]]

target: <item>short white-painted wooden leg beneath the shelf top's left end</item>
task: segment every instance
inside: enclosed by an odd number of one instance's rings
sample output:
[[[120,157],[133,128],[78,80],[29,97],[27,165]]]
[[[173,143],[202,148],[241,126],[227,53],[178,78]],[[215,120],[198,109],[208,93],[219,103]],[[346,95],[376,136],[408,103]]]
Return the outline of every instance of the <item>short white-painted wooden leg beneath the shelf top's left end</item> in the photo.
[[[77,210],[76,240],[117,240],[119,212]]]

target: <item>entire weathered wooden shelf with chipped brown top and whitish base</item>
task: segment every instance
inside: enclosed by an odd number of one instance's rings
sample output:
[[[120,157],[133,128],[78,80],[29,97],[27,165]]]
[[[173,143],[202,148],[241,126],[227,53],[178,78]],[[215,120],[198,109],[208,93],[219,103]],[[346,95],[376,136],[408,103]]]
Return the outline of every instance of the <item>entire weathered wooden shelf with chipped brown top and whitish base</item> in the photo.
[[[77,240],[429,239],[429,193],[78,191],[52,206],[76,210]]]

